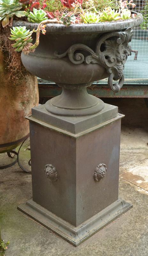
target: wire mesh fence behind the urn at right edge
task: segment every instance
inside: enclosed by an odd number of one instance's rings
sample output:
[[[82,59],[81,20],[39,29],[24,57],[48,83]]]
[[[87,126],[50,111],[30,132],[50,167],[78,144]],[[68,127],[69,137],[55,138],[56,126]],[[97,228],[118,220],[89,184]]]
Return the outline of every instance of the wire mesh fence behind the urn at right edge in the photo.
[[[124,75],[126,79],[147,79],[148,83],[148,0],[134,0],[136,12],[143,14],[144,22],[133,28],[134,36],[130,43],[132,54],[125,64]]]

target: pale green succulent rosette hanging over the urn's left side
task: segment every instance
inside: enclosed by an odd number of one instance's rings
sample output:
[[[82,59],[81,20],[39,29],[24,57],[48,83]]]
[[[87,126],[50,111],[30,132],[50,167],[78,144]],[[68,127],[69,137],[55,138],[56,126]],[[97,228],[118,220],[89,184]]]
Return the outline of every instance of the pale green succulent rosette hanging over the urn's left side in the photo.
[[[12,44],[12,46],[16,48],[16,52],[22,51],[26,44],[30,44],[33,41],[31,37],[32,33],[33,31],[27,30],[25,26],[13,27],[13,29],[11,29],[11,37],[9,37],[9,39],[15,40],[16,43]]]

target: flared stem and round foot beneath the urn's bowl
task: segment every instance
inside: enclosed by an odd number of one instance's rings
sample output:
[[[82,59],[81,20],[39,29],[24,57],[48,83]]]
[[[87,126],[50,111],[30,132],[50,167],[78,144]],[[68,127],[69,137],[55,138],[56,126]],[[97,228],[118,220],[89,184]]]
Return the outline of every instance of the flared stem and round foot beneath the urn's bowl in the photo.
[[[48,112],[62,116],[87,116],[99,113],[104,102],[88,94],[88,84],[58,84],[63,88],[61,95],[48,100],[45,108]]]

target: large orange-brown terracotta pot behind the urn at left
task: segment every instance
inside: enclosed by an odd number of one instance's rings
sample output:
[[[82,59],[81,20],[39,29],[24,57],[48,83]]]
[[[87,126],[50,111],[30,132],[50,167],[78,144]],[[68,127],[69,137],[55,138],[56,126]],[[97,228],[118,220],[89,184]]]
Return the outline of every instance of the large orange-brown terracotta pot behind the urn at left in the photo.
[[[36,76],[26,71],[18,80],[8,80],[5,56],[0,51],[0,153],[16,148],[29,136],[29,121],[25,116],[38,105]]]

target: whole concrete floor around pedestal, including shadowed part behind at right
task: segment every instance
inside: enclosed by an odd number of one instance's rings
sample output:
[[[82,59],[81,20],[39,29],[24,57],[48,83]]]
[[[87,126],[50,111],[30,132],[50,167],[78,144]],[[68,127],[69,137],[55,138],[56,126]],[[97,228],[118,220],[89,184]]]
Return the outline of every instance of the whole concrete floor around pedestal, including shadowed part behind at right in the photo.
[[[116,99],[110,104],[118,105],[126,115],[122,122],[119,195],[133,208],[75,248],[17,210],[19,204],[31,199],[32,184],[31,175],[15,164],[0,170],[1,233],[5,241],[10,240],[6,256],[148,255],[148,191],[140,188],[140,183],[132,184],[133,178],[129,182],[122,176],[127,172],[137,175],[134,173],[139,166],[139,180],[146,180],[148,109],[143,99]]]

